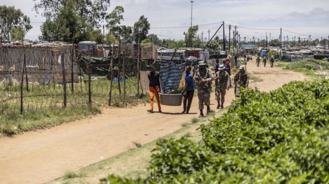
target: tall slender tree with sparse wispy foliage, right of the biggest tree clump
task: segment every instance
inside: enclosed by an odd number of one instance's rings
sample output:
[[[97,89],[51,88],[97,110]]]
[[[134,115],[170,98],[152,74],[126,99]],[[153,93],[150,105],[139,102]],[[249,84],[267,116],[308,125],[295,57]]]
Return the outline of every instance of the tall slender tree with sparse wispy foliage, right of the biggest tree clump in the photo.
[[[122,6],[117,6],[115,9],[112,11],[112,13],[109,13],[106,17],[105,20],[107,22],[106,28],[109,29],[109,33],[119,36],[120,33],[120,21],[123,20],[123,15],[122,13],[124,12]]]

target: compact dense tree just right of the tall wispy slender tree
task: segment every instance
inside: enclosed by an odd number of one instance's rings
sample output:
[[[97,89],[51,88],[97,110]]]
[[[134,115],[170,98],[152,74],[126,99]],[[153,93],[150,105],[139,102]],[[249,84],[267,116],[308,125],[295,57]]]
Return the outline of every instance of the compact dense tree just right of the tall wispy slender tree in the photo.
[[[150,30],[150,23],[148,21],[147,17],[144,17],[144,15],[139,17],[139,20],[134,24],[133,28],[133,37],[135,39],[135,42],[138,42],[139,40],[143,40],[147,38],[147,34]]]

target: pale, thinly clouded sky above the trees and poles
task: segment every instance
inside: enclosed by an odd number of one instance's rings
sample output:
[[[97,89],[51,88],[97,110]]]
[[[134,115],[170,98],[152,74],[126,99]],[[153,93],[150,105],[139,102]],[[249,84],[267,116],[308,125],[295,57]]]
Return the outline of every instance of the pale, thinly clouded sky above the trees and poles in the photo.
[[[38,39],[40,26],[45,21],[32,10],[34,3],[33,0],[0,0],[0,5],[14,6],[30,17],[33,28],[26,39]],[[211,38],[223,21],[227,38],[231,25],[237,27],[241,40],[254,37],[257,41],[266,35],[268,40],[276,39],[280,28],[282,38],[288,36],[289,40],[294,36],[297,40],[298,37],[307,39],[309,35],[312,40],[329,36],[328,0],[194,0],[193,3],[190,0],[112,0],[107,12],[111,13],[116,6],[124,8],[121,25],[133,27],[144,15],[151,25],[149,34],[156,34],[160,39],[184,39],[183,33],[191,26],[191,10],[192,26],[199,26],[197,35],[204,40]],[[215,36],[223,38],[223,27]]]

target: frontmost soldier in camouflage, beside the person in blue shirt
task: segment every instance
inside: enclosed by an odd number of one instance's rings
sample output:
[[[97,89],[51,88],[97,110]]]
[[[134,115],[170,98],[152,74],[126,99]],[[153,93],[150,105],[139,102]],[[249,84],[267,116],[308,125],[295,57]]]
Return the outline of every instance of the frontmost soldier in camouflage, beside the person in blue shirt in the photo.
[[[211,70],[206,68],[204,61],[199,62],[199,68],[194,73],[194,80],[197,81],[197,97],[199,99],[199,117],[203,117],[204,103],[207,106],[207,113],[210,112],[210,90],[209,86],[213,80]]]

